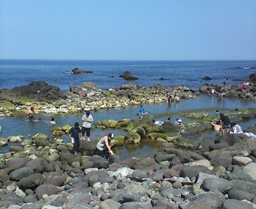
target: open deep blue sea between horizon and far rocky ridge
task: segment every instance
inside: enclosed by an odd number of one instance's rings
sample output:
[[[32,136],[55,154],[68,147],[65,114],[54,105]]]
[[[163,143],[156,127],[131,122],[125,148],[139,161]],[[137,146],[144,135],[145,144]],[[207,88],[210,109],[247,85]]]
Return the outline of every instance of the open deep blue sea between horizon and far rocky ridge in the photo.
[[[73,75],[65,73],[73,68],[92,70],[93,73]],[[250,68],[248,68],[250,67]],[[82,82],[95,82],[99,89],[112,86],[119,88],[125,81],[119,78],[129,71],[138,80],[132,81],[142,86],[156,83],[173,87],[183,84],[189,88],[200,88],[204,83],[223,83],[228,85],[247,81],[249,75],[256,72],[256,60],[253,61],[100,61],[100,60],[0,60],[0,89],[12,89],[27,85],[31,81],[46,81],[58,86],[61,91],[69,91],[70,84],[76,86]],[[211,81],[202,78],[209,76]],[[112,78],[111,78],[112,77]],[[163,81],[159,78],[164,78]]]

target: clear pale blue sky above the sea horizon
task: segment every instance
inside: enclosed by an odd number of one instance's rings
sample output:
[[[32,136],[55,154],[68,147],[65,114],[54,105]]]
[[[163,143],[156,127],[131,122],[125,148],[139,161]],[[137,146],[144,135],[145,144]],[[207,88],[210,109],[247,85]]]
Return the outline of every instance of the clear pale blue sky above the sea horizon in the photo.
[[[0,0],[0,58],[256,60],[256,1]]]

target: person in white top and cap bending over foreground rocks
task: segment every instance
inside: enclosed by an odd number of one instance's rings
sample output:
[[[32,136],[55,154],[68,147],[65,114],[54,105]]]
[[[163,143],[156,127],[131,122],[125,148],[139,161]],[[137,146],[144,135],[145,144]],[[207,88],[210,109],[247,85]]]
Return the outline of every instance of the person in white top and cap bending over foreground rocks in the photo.
[[[97,142],[97,155],[109,158],[109,154],[115,155],[113,151],[111,150],[111,140],[114,139],[113,134],[110,133],[108,136],[104,136],[100,139],[99,142]]]

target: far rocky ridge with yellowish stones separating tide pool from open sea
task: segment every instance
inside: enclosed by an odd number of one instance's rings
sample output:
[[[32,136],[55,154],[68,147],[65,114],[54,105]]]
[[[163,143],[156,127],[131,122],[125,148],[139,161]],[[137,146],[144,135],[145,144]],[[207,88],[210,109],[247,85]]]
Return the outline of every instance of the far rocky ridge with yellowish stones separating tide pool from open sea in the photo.
[[[225,92],[225,97],[239,97],[256,100],[256,86],[250,84],[240,86],[223,86],[223,84],[204,85],[201,89],[189,89],[185,86],[166,87],[156,84],[143,87],[127,83],[119,89],[97,89],[95,83],[85,82],[81,86],[71,84],[70,91],[60,92],[57,86],[45,82],[34,81],[27,86],[14,89],[1,89],[0,116],[23,117],[33,106],[36,114],[78,114],[89,110],[107,110],[127,107],[128,105],[156,104],[167,102],[167,94],[171,101],[178,99],[194,99],[200,94],[210,94],[210,91]],[[220,96],[220,95],[219,95]]]

